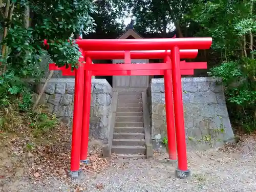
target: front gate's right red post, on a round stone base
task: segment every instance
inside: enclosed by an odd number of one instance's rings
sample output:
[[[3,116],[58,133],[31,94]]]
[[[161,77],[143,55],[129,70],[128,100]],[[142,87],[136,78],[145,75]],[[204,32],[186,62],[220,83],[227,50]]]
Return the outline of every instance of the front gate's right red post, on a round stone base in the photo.
[[[185,178],[190,175],[190,170],[188,170],[187,168],[186,135],[184,125],[182,84],[180,73],[180,50],[177,46],[172,48],[171,58],[174,93],[174,116],[178,154],[178,168],[176,169],[176,176],[178,178]]]

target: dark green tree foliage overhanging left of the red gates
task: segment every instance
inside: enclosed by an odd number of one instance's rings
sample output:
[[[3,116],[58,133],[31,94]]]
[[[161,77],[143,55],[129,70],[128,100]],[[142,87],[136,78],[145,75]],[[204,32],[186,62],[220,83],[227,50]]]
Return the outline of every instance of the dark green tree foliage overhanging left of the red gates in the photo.
[[[29,109],[31,91],[22,79],[42,77],[46,56],[58,66],[77,67],[80,52],[74,39],[80,31],[92,31],[96,12],[91,0],[1,0],[1,102],[18,96],[20,109]]]

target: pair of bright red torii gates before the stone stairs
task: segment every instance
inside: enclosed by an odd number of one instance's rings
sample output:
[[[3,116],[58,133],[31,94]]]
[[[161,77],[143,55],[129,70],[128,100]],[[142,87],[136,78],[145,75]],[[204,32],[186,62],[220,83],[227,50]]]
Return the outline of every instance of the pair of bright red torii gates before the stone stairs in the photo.
[[[164,75],[166,125],[169,159],[176,160],[176,176],[190,175],[187,167],[185,126],[182,101],[181,75],[193,75],[194,69],[206,69],[206,62],[185,62],[181,58],[195,58],[198,49],[209,49],[212,38],[155,38],[155,39],[76,39],[82,57],[80,66],[71,68],[55,66],[63,75],[75,75],[74,116],[71,149],[72,178],[81,173],[80,162],[88,163],[92,75]],[[166,51],[165,51],[166,50]],[[124,64],[92,64],[92,59],[123,59]],[[131,64],[131,59],[164,59],[163,63]],[[86,61],[86,62],[84,62]],[[174,102],[173,102],[174,101]],[[82,120],[81,120],[82,119]],[[176,154],[177,141],[177,154]]]

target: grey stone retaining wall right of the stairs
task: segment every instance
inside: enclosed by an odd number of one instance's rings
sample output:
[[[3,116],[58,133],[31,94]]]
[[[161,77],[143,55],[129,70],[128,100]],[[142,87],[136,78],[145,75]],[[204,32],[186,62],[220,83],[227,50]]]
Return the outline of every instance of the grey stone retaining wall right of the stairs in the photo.
[[[205,148],[221,146],[234,138],[221,79],[182,78],[187,145]],[[152,139],[166,137],[164,80],[152,79],[148,89]]]

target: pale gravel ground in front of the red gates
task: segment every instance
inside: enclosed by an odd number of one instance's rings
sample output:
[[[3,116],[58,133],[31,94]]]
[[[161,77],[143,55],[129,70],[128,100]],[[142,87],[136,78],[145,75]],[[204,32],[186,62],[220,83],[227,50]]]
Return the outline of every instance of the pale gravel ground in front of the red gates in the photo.
[[[167,163],[166,155],[151,160],[119,159],[103,173],[84,175],[79,180],[49,179],[49,183],[24,180],[10,182],[3,192],[111,191],[111,192],[256,192],[256,141],[248,138],[240,151],[188,152],[191,177],[175,178],[176,164]],[[0,190],[1,191],[1,190]]]

